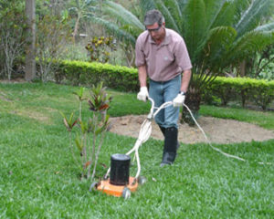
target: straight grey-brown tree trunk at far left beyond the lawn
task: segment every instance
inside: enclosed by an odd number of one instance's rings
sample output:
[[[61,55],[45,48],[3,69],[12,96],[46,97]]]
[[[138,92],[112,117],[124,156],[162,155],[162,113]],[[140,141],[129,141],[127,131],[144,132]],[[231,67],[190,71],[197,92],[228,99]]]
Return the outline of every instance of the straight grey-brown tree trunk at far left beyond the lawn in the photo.
[[[30,81],[36,77],[36,5],[35,0],[26,0],[26,22],[28,26],[26,45],[25,79]]]

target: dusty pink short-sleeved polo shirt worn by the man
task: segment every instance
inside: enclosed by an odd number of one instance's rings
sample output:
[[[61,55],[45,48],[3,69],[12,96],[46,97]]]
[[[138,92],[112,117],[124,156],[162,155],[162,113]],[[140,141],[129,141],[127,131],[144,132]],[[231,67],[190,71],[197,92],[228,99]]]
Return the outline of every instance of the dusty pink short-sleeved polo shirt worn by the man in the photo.
[[[183,37],[172,29],[165,28],[160,45],[156,45],[147,30],[142,32],[137,38],[135,53],[135,65],[146,64],[149,78],[155,81],[170,80],[192,68]]]

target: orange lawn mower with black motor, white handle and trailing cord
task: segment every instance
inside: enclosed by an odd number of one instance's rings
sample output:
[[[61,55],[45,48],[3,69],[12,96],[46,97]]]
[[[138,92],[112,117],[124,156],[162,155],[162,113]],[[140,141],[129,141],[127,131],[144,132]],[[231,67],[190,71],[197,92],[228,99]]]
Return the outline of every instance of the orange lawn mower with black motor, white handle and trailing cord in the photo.
[[[152,103],[152,108],[147,118],[142,122],[138,139],[135,142],[132,150],[128,151],[126,154],[116,153],[111,155],[111,167],[109,168],[108,172],[104,175],[103,180],[100,181],[100,183],[96,183],[96,182],[91,183],[90,192],[92,190],[99,190],[102,193],[107,193],[117,197],[122,196],[124,199],[128,199],[131,197],[131,193],[137,190],[138,185],[142,185],[143,183],[146,183],[147,181],[146,178],[143,176],[140,176],[141,164],[140,164],[138,150],[141,147],[142,143],[147,141],[151,136],[153,118],[155,118],[155,116],[158,114],[160,110],[163,110],[164,108],[167,108],[173,105],[173,101],[168,101],[168,102],[164,102],[159,108],[156,108],[154,107],[153,99],[151,98],[148,98],[148,99]],[[191,110],[185,104],[183,105],[189,111],[192,119],[195,121],[195,124],[197,125],[199,130],[202,131],[202,133],[205,136],[205,140],[207,141],[207,143],[213,150],[218,151],[227,157],[245,162],[245,160],[240,157],[231,155],[229,153],[221,151],[220,149],[217,149],[214,146],[212,146],[211,142],[207,139],[205,135],[205,131],[200,127],[200,125],[195,120],[195,117],[193,116]],[[131,164],[130,155],[132,154],[132,152],[135,152],[133,162],[135,159],[137,162],[137,173],[135,177],[132,177],[129,174],[130,164]],[[111,173],[111,177],[110,177],[110,173]]]

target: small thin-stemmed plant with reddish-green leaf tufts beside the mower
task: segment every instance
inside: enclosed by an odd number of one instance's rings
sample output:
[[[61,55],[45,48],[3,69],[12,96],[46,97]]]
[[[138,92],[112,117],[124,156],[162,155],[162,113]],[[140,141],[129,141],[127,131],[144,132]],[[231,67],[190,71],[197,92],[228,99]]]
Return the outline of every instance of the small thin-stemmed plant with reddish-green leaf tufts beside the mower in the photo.
[[[74,119],[74,113],[71,113],[69,118],[63,113],[61,114],[69,132],[69,147],[72,157],[81,170],[80,179],[87,178],[92,181],[96,173],[100,149],[109,128],[110,116],[107,114],[107,110],[110,108],[111,97],[106,93],[106,88],[103,87],[102,83],[98,86],[92,86],[90,99],[88,99],[91,116],[87,120],[83,120],[82,101],[86,100],[84,98],[84,89],[80,88],[74,94],[79,99],[79,118]],[[74,128],[77,129],[72,134]],[[72,141],[73,138],[75,144]],[[77,156],[75,150],[79,151],[79,156]]]

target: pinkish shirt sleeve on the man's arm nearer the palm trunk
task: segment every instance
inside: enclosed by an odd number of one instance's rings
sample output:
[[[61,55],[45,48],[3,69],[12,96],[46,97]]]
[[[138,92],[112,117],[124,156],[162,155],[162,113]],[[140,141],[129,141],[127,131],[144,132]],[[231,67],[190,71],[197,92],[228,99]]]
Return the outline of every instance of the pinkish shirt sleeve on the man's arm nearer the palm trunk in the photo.
[[[183,38],[178,42],[177,47],[175,47],[174,55],[176,63],[182,69],[182,71],[192,68],[191,60]]]

